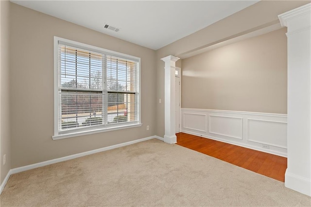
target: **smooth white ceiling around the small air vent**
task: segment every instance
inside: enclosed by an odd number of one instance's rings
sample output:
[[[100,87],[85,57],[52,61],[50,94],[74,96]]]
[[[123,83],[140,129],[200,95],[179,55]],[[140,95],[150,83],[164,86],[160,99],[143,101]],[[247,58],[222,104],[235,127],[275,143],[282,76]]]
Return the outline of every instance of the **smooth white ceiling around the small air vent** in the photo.
[[[11,0],[86,28],[157,50],[259,0]],[[120,28],[104,29],[105,23]]]

